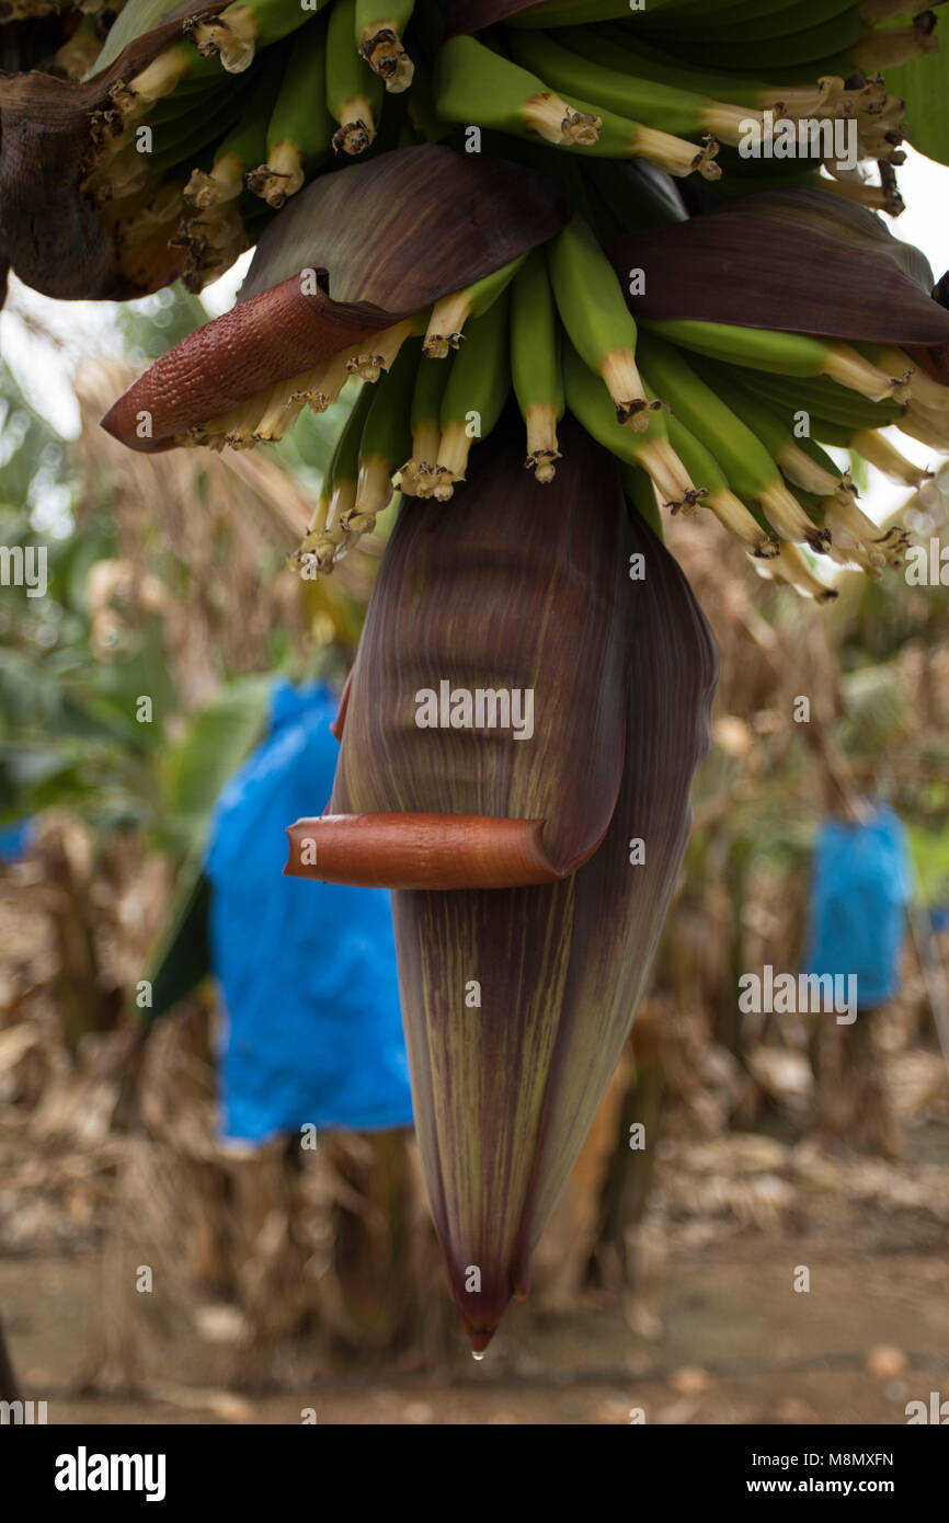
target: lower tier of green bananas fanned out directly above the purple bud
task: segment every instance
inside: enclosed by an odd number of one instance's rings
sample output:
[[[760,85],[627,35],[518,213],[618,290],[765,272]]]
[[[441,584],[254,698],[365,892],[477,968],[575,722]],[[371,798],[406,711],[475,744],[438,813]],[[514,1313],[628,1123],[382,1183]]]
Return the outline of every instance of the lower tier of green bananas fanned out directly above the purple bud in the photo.
[[[902,530],[880,532],[862,513],[850,461],[915,487],[929,472],[882,429],[949,449],[949,387],[897,347],[690,320],[637,324],[580,216],[178,443],[277,442],[305,407],[331,407],[350,378],[361,391],[297,553],[314,574],[373,528],[396,487],[449,503],[509,401],[541,486],[556,477],[558,428],[570,413],[620,461],[631,501],[649,516],[707,509],[763,574],[820,600],[835,594],[801,547],[879,579],[906,545]],[[845,451],[847,465],[829,449]]]

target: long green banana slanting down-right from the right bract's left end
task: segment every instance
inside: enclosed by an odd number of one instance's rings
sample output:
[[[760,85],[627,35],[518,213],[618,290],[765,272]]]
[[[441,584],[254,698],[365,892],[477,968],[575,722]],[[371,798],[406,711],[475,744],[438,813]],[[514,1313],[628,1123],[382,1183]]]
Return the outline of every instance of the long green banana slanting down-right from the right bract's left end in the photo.
[[[673,416],[717,460],[733,492],[746,501],[760,503],[781,539],[803,541],[821,550],[826,535],[810,522],[788,490],[765,445],[739,414],[705,385],[681,350],[652,334],[643,334],[640,361],[647,384],[661,391]]]

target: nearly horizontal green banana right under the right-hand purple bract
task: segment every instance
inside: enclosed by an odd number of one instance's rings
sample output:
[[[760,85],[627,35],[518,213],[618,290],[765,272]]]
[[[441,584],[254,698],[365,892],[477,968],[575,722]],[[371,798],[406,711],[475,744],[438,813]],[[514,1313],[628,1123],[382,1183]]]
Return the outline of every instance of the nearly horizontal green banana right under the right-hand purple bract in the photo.
[[[893,382],[882,370],[850,344],[807,338],[765,327],[736,327],[730,323],[696,323],[687,318],[643,320],[643,327],[660,338],[693,349],[710,359],[724,359],[751,370],[783,376],[829,376],[839,385],[859,391],[873,402],[893,396]]]

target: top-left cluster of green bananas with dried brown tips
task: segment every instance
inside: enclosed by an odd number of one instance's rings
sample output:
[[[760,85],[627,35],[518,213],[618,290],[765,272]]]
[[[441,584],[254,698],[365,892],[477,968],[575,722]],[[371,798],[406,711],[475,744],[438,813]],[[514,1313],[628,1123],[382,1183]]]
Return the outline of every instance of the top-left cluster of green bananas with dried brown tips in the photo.
[[[129,0],[129,24],[105,46],[97,20],[84,17],[56,70],[94,79],[113,65],[137,6]],[[314,175],[364,154],[387,93],[411,84],[402,34],[413,9],[407,0],[256,0],[186,18],[180,40],[114,81],[91,117],[81,192],[119,262],[134,267],[136,245],[168,227],[168,247],[186,253],[186,285],[200,291]],[[393,129],[419,140],[404,111]]]

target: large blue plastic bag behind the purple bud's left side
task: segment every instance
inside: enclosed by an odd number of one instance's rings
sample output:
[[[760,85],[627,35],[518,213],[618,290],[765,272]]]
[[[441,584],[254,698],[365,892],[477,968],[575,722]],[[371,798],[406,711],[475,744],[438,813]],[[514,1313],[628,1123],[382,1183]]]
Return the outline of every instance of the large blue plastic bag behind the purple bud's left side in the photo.
[[[411,1124],[388,894],[283,877],[286,825],[332,790],[338,699],[274,688],[271,731],[210,824],[212,966],[224,1007],[222,1130]]]

